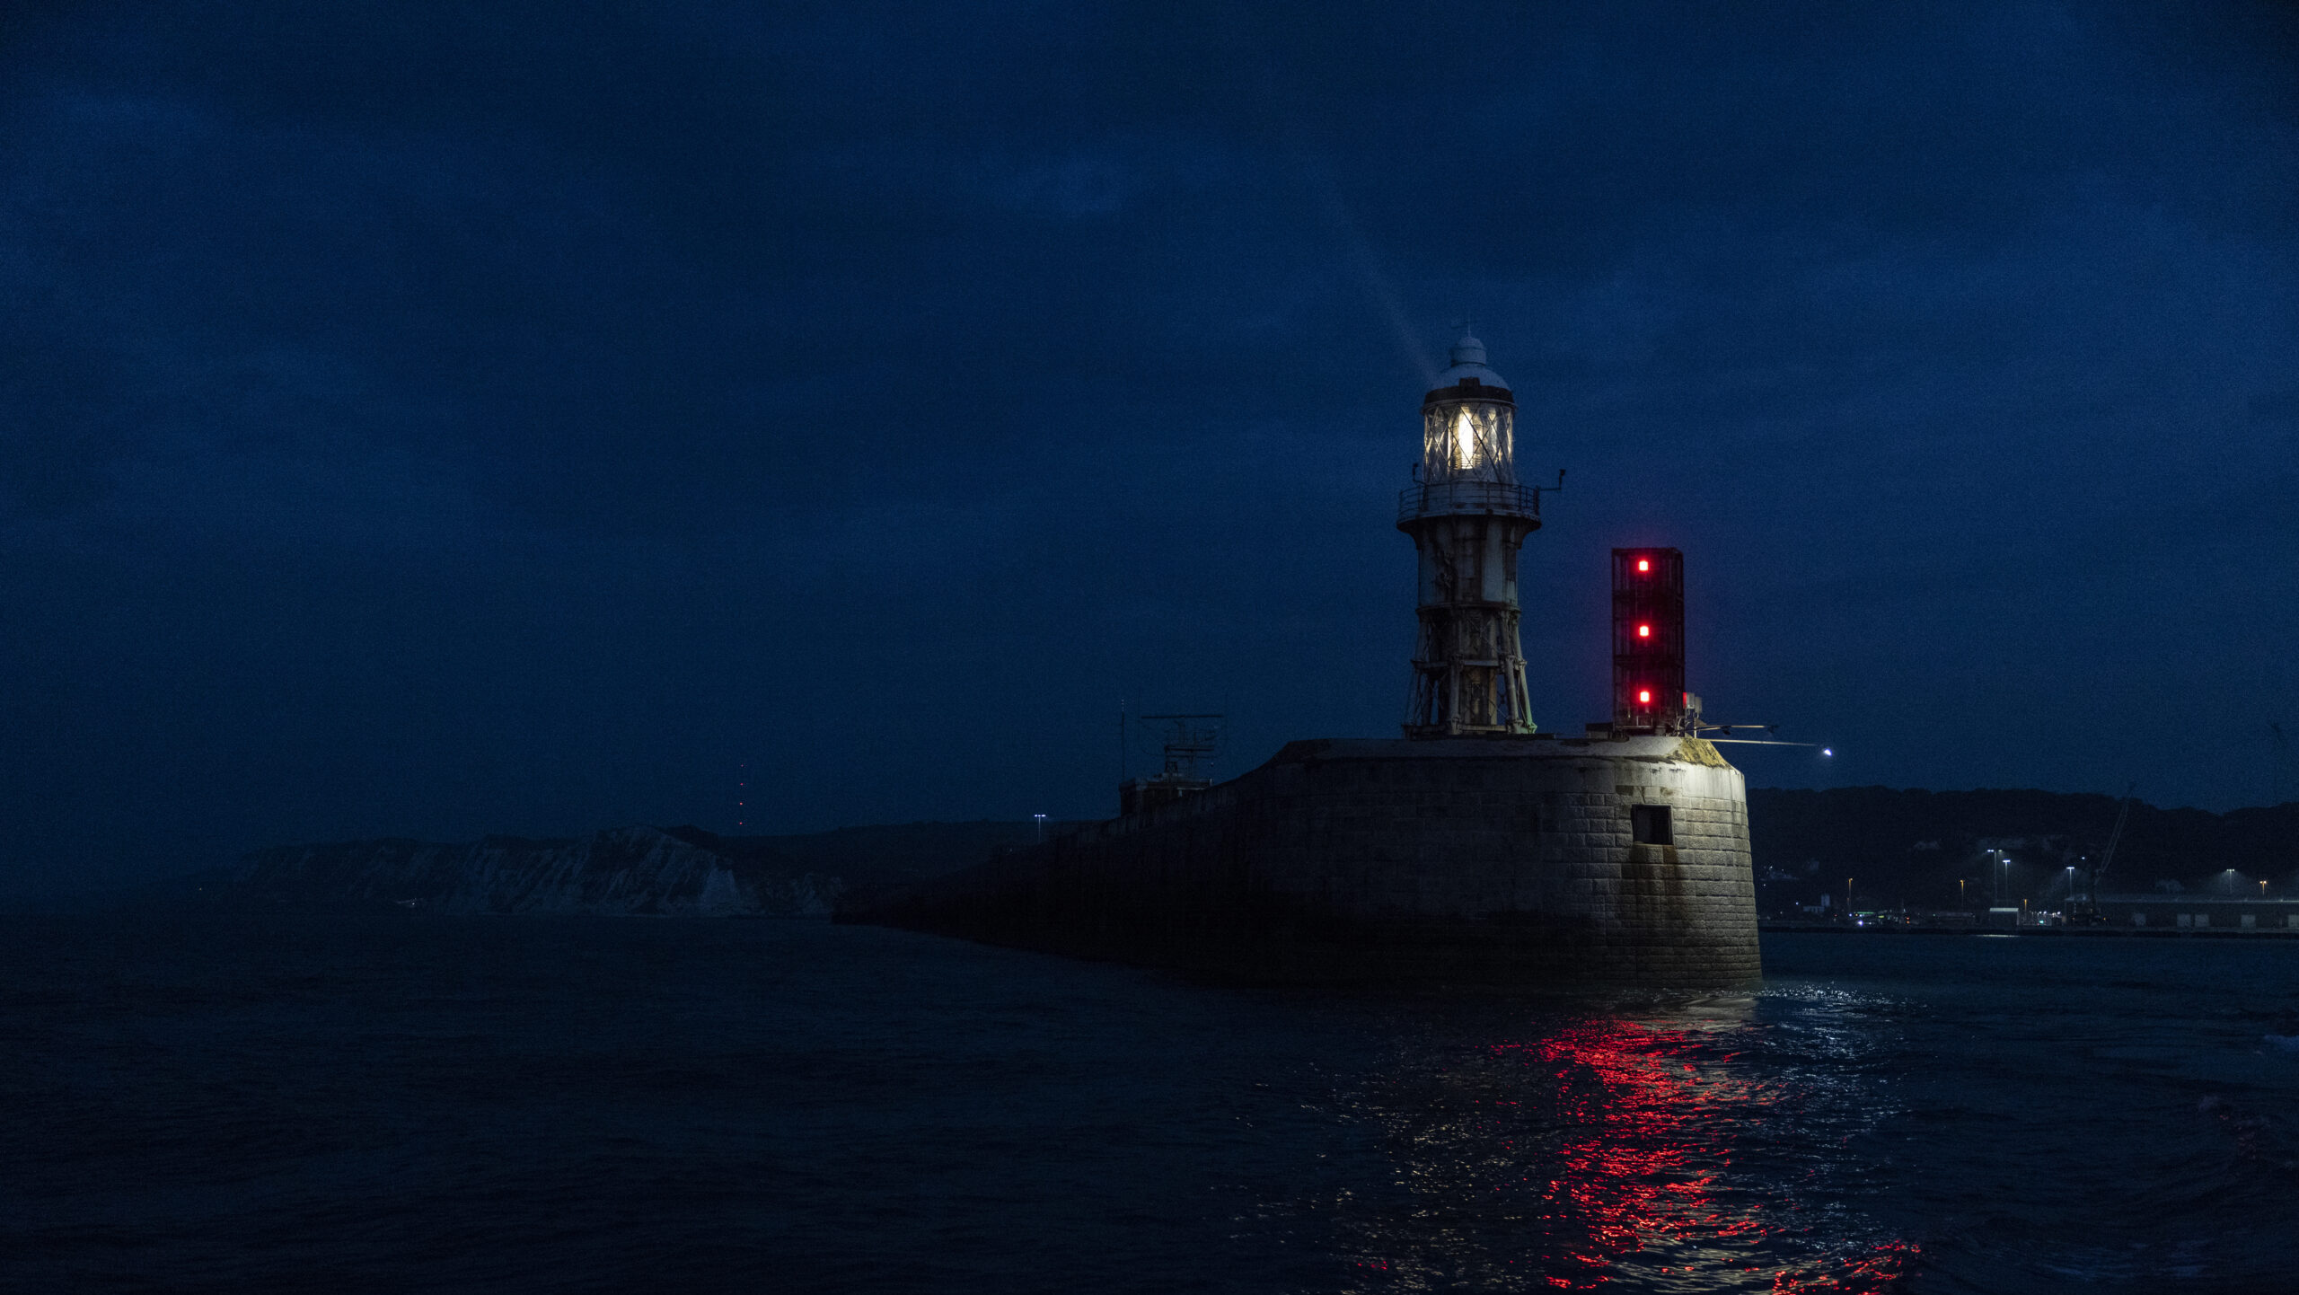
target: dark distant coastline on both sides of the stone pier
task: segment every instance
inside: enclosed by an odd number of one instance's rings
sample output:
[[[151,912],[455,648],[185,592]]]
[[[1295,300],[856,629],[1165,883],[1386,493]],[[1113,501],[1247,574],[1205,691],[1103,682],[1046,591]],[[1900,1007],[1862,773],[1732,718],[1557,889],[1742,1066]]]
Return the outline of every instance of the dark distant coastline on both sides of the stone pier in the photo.
[[[1851,881],[1858,909],[2051,904],[2099,858],[2113,796],[2058,791],[1752,789],[1750,837],[1766,929],[1825,929],[1802,909]],[[1074,823],[1046,823],[1069,830]],[[163,904],[271,911],[825,915],[841,897],[972,867],[1037,840],[1032,821],[885,823],[802,835],[628,826],[589,837],[370,840],[274,846],[138,892]],[[1991,876],[2002,851],[2007,867]],[[2299,803],[2230,810],[2133,805],[2104,890],[2235,883],[2299,892]],[[1984,897],[1982,890],[1986,888]],[[2248,890],[2246,890],[2248,892]],[[1943,927],[1954,929],[1954,927]]]

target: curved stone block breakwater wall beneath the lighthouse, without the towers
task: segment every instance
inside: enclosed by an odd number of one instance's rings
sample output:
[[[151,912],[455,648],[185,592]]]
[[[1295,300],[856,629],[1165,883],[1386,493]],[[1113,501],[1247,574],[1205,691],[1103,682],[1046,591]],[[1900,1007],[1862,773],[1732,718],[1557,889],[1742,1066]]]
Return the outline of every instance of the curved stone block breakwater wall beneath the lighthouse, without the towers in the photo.
[[[1747,791],[1690,738],[1292,743],[1175,805],[837,915],[1276,982],[1761,971]]]

